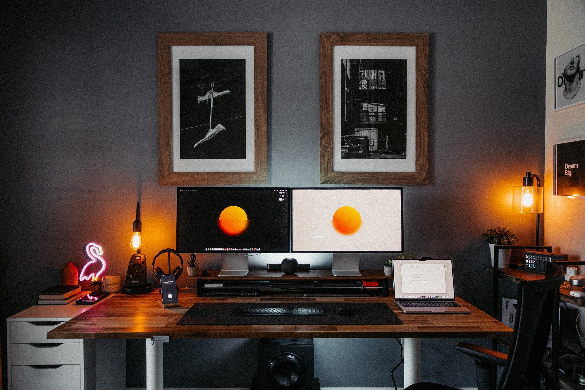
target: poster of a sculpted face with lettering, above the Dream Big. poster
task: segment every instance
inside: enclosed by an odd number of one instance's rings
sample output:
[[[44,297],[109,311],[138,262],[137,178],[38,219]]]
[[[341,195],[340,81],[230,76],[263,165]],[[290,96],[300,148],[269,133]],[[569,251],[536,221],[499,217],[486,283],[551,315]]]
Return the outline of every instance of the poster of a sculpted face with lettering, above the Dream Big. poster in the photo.
[[[555,105],[553,111],[574,107],[585,102],[585,87],[581,84],[585,69],[581,60],[585,57],[585,42],[555,57]]]

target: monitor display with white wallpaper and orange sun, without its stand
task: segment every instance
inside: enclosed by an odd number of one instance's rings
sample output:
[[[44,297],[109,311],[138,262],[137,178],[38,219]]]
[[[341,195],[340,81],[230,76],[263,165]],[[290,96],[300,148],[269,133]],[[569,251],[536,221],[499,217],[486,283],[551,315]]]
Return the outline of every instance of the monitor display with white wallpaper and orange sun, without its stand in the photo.
[[[292,189],[293,252],[402,252],[402,189]]]

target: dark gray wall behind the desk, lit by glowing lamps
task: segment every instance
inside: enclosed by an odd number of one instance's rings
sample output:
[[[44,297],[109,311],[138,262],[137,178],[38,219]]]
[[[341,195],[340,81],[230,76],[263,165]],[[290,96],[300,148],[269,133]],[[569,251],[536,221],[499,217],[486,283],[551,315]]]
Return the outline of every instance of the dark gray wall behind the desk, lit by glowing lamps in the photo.
[[[453,258],[458,294],[488,310],[481,232],[534,220],[511,187],[542,172],[546,3],[538,1],[5,2],[0,78],[0,317],[35,303],[81,248],[104,245],[125,275],[142,201],[144,253],[174,245],[176,189],[158,184],[157,49],[163,31],[265,31],[269,184],[319,185],[319,32],[428,32],[429,186],[405,187],[405,248]],[[202,256],[216,268],[216,256]],[[278,261],[282,256],[273,256]],[[387,256],[364,255],[380,269]],[[326,266],[326,259],[312,259]],[[266,262],[264,262],[266,264]],[[424,341],[423,377],[474,386],[460,340]],[[485,341],[480,341],[485,343]],[[128,343],[128,385],[144,382],[144,343]],[[316,340],[324,386],[387,386],[394,340]],[[166,385],[245,386],[253,340],[175,340]],[[5,353],[5,348],[2,348]],[[5,356],[3,357],[5,362]],[[399,374],[401,382],[401,375]]]

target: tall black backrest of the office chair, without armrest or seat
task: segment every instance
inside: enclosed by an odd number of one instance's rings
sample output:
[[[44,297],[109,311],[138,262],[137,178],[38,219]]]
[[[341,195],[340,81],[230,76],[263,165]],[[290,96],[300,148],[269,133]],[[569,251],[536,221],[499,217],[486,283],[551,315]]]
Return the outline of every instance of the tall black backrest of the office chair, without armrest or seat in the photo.
[[[518,304],[512,345],[498,390],[540,389],[542,358],[549,340],[555,291],[563,283],[563,270],[554,263],[546,265],[546,278],[518,283]]]

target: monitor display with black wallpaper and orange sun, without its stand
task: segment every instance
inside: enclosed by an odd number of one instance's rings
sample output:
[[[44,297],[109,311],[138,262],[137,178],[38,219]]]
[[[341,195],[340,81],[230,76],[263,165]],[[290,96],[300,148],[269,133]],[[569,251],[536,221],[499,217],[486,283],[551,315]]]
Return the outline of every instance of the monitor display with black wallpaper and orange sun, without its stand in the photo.
[[[290,190],[178,187],[177,251],[289,252]]]

